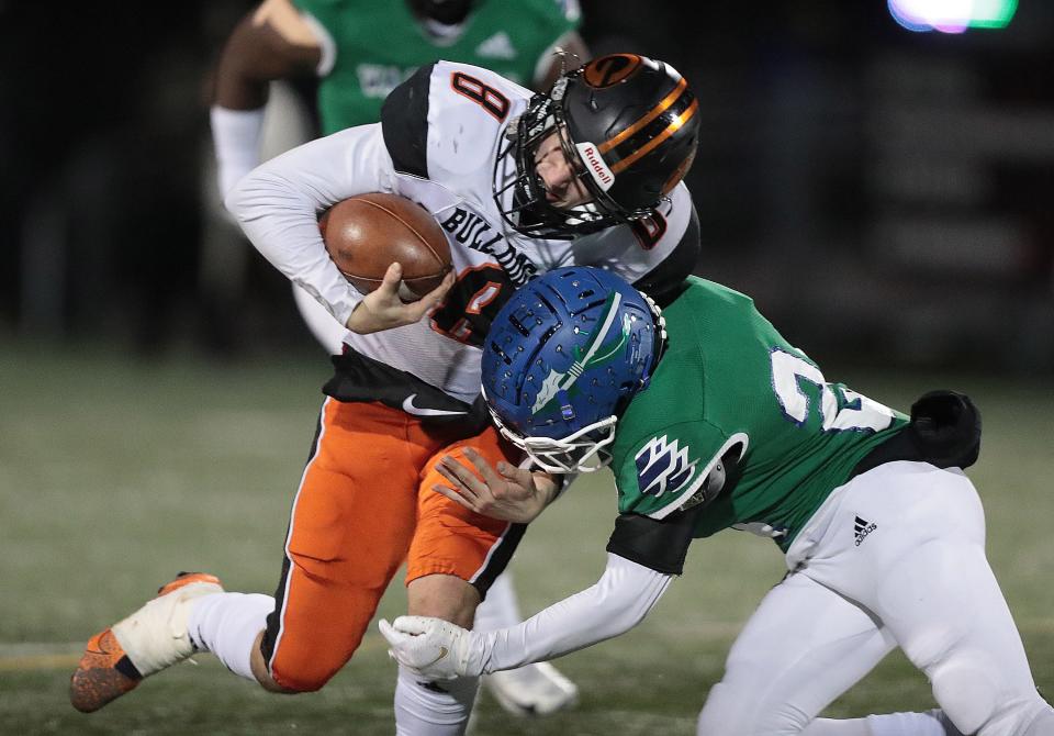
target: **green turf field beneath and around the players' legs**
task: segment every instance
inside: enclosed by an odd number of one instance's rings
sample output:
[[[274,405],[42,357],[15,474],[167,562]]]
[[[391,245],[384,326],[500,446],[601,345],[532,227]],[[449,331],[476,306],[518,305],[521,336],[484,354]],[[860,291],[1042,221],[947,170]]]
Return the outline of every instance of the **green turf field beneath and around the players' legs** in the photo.
[[[326,368],[313,354],[217,365],[144,363],[117,349],[0,349],[0,733],[393,733],[394,666],[375,628],[314,694],[265,694],[205,655],[93,715],[66,700],[83,640],[175,572],[208,570],[232,590],[272,592]],[[939,386],[975,397],[985,442],[971,475],[986,504],[989,557],[1036,682],[1054,692],[1050,381],[826,372],[899,408]],[[603,569],[607,480],[581,482],[528,532],[513,564],[526,612]],[[684,578],[644,624],[558,662],[581,687],[576,710],[517,721],[483,695],[474,733],[695,733],[725,651],[781,573],[778,550],[760,538],[728,532],[696,544]],[[394,586],[381,613],[397,615],[404,600]],[[894,654],[828,714],[932,706],[923,678]]]

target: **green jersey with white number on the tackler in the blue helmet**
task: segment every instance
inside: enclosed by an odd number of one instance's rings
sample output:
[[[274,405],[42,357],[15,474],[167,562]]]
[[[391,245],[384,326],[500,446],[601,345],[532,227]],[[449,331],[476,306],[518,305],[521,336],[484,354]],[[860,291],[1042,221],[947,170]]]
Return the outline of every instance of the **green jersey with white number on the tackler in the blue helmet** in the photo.
[[[663,315],[669,348],[612,446],[621,513],[661,520],[691,508],[732,451],[738,481],[699,512],[694,536],[735,526],[786,550],[856,464],[907,424],[829,383],[737,291],[692,277]]]

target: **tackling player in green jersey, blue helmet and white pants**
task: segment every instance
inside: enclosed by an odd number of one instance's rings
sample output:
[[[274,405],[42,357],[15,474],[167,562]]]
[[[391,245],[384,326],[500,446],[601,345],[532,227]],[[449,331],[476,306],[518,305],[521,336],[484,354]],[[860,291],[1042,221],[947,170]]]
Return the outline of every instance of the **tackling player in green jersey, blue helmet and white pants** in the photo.
[[[829,382],[741,293],[689,277],[660,315],[583,267],[549,271],[505,304],[482,381],[495,423],[537,466],[610,461],[619,515],[607,568],[505,631],[381,622],[404,666],[461,677],[617,636],[681,573],[692,539],[745,528],[775,539],[788,572],[732,646],[699,734],[1054,734],[962,470],[980,443],[968,398],[931,392],[906,416]],[[517,521],[553,495],[527,470],[471,459],[445,461],[450,488],[436,490]],[[817,717],[895,647],[939,709]]]

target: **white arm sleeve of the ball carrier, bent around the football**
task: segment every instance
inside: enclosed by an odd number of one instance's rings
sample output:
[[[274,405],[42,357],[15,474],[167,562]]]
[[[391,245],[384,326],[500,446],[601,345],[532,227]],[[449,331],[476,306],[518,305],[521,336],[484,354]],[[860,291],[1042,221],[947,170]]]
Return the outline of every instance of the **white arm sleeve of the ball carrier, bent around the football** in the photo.
[[[362,295],[329,259],[318,214],[355,194],[392,191],[393,175],[381,126],[360,125],[255,168],[225,204],[257,250],[344,324]]]

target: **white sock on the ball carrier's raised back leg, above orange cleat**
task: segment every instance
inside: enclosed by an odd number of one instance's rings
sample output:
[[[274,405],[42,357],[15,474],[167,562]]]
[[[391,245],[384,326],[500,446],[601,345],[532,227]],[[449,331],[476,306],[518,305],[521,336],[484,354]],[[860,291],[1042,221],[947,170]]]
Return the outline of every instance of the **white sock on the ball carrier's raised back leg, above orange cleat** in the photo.
[[[194,602],[187,620],[190,640],[211,651],[227,669],[256,682],[253,674],[253,643],[267,627],[267,614],[274,599],[259,593],[215,593]]]

